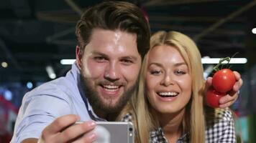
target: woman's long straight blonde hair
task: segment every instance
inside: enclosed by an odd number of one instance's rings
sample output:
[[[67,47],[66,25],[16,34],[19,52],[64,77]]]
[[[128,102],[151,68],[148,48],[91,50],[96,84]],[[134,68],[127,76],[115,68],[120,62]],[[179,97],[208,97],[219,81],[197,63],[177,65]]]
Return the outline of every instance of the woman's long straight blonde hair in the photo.
[[[133,122],[137,132],[136,142],[149,142],[150,132],[160,127],[157,116],[147,100],[145,90],[145,76],[147,72],[148,53],[160,45],[175,46],[188,65],[192,79],[192,96],[186,105],[186,113],[183,119],[183,131],[189,132],[190,142],[205,142],[205,114],[204,114],[204,77],[201,64],[201,54],[194,41],[188,36],[177,31],[158,31],[150,38],[150,50],[145,55],[140,71],[139,87],[129,100],[122,115],[132,113]]]

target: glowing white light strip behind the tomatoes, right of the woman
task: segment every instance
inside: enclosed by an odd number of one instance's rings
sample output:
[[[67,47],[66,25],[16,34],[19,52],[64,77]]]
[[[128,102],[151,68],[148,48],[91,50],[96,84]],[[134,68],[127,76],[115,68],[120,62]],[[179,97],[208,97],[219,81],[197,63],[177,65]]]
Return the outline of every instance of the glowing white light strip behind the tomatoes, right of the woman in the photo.
[[[203,58],[202,64],[218,64],[220,58]],[[227,64],[227,61],[222,62],[224,64]],[[229,61],[229,64],[246,64],[247,59],[246,58],[232,58]]]

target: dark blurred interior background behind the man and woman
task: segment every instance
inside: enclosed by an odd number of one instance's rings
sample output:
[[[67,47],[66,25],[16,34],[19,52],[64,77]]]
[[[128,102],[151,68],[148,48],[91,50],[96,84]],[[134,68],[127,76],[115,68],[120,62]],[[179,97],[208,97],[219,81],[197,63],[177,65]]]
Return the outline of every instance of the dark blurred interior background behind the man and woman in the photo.
[[[0,0],[0,142],[12,137],[26,92],[70,69],[75,26],[82,11],[100,0]],[[232,105],[237,137],[256,142],[256,1],[130,0],[144,11],[151,32],[181,31],[196,41],[211,76],[212,58],[235,53],[244,81]],[[71,61],[72,63],[73,61]]]

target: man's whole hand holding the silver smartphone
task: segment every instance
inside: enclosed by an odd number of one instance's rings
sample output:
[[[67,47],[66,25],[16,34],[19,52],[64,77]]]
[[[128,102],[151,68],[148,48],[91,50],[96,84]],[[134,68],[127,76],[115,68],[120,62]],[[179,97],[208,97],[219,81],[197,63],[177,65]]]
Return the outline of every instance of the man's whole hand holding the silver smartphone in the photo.
[[[88,121],[81,124],[75,124],[80,117],[74,114],[68,114],[55,119],[49,126],[45,127],[38,143],[62,143],[62,142],[94,142],[96,134],[93,129],[96,122]],[[72,125],[72,126],[71,126]]]

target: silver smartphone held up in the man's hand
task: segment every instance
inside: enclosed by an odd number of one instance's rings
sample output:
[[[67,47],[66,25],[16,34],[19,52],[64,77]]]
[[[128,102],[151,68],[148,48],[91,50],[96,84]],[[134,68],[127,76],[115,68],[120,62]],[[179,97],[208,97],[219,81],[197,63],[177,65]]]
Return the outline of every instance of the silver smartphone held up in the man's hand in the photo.
[[[76,122],[79,124],[81,122]],[[132,122],[96,122],[98,139],[94,143],[134,143]]]

